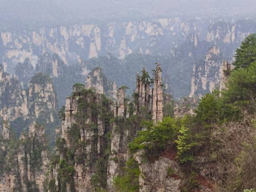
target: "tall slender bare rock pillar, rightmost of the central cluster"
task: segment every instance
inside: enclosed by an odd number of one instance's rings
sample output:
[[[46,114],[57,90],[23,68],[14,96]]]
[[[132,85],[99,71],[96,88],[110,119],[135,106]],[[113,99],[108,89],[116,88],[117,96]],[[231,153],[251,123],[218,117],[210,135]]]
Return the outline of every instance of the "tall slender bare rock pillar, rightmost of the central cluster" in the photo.
[[[152,120],[156,124],[163,118],[163,90],[162,90],[162,70],[158,63],[154,77],[153,97],[152,97]]]

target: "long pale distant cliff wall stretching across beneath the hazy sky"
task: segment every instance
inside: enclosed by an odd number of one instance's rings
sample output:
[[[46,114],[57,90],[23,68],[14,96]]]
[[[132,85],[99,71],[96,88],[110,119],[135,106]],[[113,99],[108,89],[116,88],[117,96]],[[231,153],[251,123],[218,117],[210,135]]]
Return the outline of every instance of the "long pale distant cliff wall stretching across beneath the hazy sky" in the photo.
[[[35,66],[40,55],[46,52],[58,54],[65,64],[74,62],[74,58],[80,56],[93,58],[107,53],[120,58],[130,53],[170,54],[187,37],[193,40],[196,47],[204,40],[227,45],[240,44],[248,34],[255,32],[255,26],[254,22],[248,20],[227,23],[215,22],[211,18],[171,17],[140,22],[58,26],[16,33],[3,31],[0,38],[4,56],[1,59],[8,72],[12,72],[14,60],[23,62],[29,58]],[[56,64],[50,65],[56,69]]]

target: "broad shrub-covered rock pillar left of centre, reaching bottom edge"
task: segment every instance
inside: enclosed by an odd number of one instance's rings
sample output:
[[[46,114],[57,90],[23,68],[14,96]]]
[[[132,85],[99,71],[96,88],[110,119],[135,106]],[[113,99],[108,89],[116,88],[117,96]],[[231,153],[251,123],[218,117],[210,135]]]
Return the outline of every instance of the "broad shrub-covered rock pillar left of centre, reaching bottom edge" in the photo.
[[[60,152],[60,157],[63,162],[69,163],[66,153],[70,150],[74,152],[74,165],[70,165],[74,168],[74,173],[70,175],[69,182],[64,183],[58,176],[62,174],[62,167],[53,165],[48,179],[56,178],[56,187],[60,186],[68,191],[91,192],[98,186],[98,183],[92,182],[92,178],[102,174],[100,170],[106,168],[106,165],[99,168],[98,163],[108,160],[104,154],[108,145],[106,133],[110,130],[110,124],[105,120],[108,118],[106,112],[114,113],[112,101],[94,90],[76,88],[73,95],[66,98],[62,138],[66,141],[67,148]],[[75,130],[78,138],[74,138]]]

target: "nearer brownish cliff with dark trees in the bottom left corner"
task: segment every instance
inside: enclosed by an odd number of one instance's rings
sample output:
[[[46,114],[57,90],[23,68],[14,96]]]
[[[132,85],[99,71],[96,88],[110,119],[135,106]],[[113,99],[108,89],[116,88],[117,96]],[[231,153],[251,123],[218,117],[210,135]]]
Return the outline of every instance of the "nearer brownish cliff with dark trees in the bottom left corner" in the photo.
[[[8,142],[16,144],[9,146]],[[1,148],[4,146],[5,154],[1,157],[5,165],[0,174],[1,191],[43,192],[49,164],[44,126],[34,124],[30,126],[29,134],[22,133],[19,141],[9,137],[0,145]]]

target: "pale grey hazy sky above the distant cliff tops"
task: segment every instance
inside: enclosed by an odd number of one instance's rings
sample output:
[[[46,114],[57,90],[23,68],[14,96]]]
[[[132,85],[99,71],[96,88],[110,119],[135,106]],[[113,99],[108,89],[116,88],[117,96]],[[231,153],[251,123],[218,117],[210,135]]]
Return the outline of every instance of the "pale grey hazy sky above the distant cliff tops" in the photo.
[[[256,0],[0,0],[0,30],[158,16],[251,16]]]

